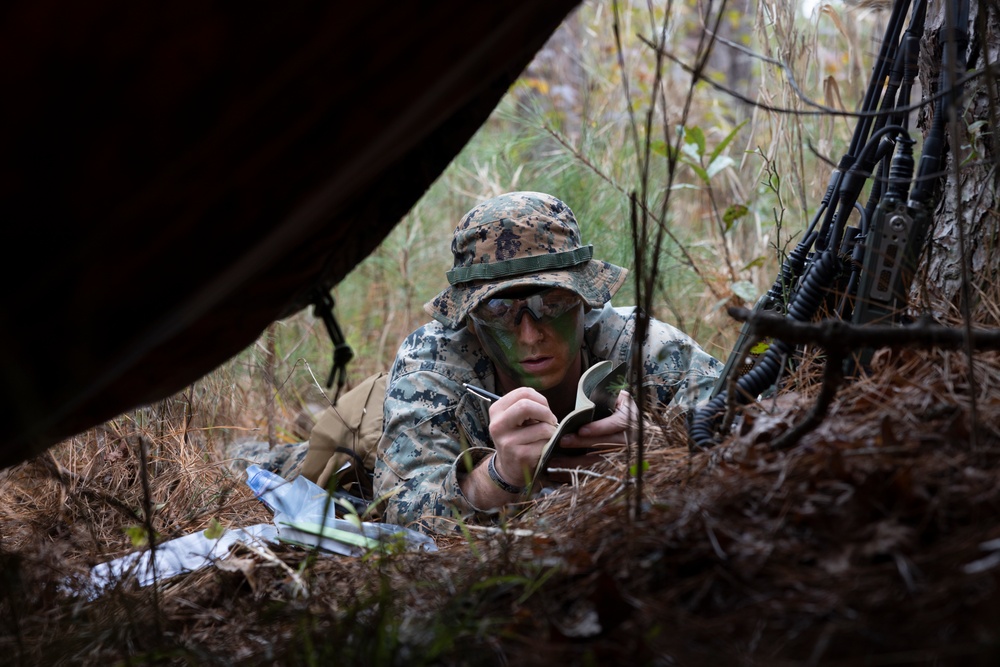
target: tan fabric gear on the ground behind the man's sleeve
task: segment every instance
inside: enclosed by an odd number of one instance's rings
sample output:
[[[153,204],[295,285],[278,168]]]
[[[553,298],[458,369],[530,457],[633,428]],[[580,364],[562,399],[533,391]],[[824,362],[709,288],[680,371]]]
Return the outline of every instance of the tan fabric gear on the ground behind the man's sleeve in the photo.
[[[336,476],[330,490],[342,488],[362,498],[372,497],[370,473],[382,436],[387,376],[380,372],[366,378],[323,411],[309,436],[309,451],[302,463],[301,474],[306,479],[329,488]]]

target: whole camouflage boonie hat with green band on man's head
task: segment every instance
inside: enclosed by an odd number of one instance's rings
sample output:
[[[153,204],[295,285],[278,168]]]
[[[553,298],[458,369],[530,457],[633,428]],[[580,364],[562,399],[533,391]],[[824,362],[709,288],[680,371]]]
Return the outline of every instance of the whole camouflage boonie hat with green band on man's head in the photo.
[[[593,249],[581,245],[573,211],[552,195],[510,192],[487,199],[455,228],[455,265],[447,274],[451,286],[424,310],[458,329],[481,301],[523,285],[563,287],[600,308],[628,271],[593,259]]]

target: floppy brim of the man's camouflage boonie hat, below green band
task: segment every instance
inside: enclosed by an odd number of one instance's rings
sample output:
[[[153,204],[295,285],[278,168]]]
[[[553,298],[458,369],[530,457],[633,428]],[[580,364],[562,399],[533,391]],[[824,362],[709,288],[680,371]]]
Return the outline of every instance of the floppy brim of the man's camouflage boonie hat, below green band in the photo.
[[[436,297],[424,304],[431,317],[452,329],[460,328],[469,311],[484,299],[497,292],[525,285],[537,287],[562,287],[580,295],[591,308],[600,308],[611,300],[625,283],[628,269],[590,260],[584,264],[558,271],[542,271],[506,280],[485,280],[446,287]]]

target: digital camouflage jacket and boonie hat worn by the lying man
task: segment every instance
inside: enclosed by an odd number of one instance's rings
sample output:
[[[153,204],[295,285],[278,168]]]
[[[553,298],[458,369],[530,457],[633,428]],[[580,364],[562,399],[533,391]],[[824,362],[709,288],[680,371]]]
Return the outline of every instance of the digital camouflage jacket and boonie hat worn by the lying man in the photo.
[[[393,364],[374,480],[376,497],[392,494],[386,521],[443,530],[456,514],[479,513],[459,479],[493,452],[488,406],[462,387],[497,391],[493,362],[464,326],[469,311],[511,287],[569,289],[589,309],[585,367],[627,361],[635,328],[634,309],[606,305],[627,271],[594,260],[573,212],[551,195],[515,192],[479,204],[455,229],[452,253],[450,286],[425,306],[437,321],[412,333]],[[720,364],[691,338],[653,321],[643,351],[639,375],[661,406],[708,397]]]

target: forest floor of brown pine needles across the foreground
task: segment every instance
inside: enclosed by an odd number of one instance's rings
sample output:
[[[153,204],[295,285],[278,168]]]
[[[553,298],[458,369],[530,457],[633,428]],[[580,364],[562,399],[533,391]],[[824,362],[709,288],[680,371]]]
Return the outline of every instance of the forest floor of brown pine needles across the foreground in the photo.
[[[0,655],[24,665],[997,665],[1000,357],[895,351],[791,446],[815,391],[748,410],[709,452],[680,420],[435,552],[287,544],[95,599],[89,569],[271,520],[211,453],[107,426],[0,473]],[[970,392],[970,387],[974,390]],[[970,401],[975,394],[976,401]],[[975,428],[973,423],[973,414]],[[634,452],[632,453],[634,457]],[[641,495],[642,501],[636,502]],[[129,532],[129,527],[133,532]],[[141,530],[140,530],[141,536]]]

